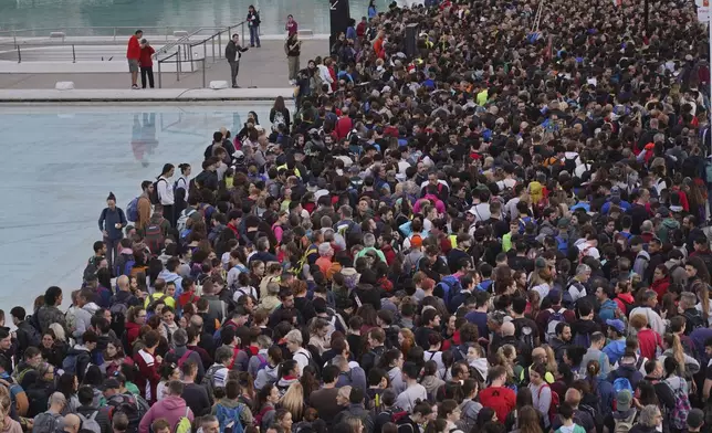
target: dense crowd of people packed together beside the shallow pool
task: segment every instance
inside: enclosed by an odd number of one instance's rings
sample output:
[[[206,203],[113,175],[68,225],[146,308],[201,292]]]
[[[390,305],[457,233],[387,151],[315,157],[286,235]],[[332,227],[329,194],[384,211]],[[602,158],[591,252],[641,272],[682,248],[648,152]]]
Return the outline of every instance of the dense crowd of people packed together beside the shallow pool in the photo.
[[[709,431],[709,42],[648,7],[371,2],[294,113],[108,196],[0,431]]]

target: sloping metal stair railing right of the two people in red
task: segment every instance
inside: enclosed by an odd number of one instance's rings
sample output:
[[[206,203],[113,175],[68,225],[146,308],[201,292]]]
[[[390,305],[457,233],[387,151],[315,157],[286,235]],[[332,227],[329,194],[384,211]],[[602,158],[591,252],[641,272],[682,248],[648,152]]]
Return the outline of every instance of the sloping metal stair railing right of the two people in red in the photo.
[[[216,63],[217,60],[222,59],[222,47],[223,47],[223,35],[227,35],[227,41],[229,42],[234,32],[242,33],[242,40],[244,40],[247,21],[239,22],[234,25],[229,25],[227,28],[220,29],[218,32],[211,34],[210,36],[198,42],[190,42],[189,40],[176,41],[172,44],[164,46],[158,53],[156,53],[155,59],[158,68],[158,88],[163,87],[163,82],[160,78],[161,75],[161,64],[164,63],[176,63],[176,80],[180,81],[180,74],[184,72],[184,64],[187,64],[190,67],[190,71],[185,72],[195,72],[195,63],[200,62],[202,70],[202,86],[206,87],[206,68],[208,67],[208,44],[210,44],[210,63]],[[195,47],[202,45],[202,57],[197,56],[198,52],[193,52]],[[216,52],[217,45],[217,52]],[[171,52],[175,49],[174,52]],[[163,54],[166,56],[161,57]]]

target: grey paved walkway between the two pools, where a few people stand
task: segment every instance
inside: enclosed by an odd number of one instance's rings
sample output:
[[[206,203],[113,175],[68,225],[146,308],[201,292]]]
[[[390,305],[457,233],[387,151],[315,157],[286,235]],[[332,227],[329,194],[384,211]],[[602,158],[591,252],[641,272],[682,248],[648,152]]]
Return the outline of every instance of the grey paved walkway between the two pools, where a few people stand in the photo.
[[[302,67],[310,59],[328,53],[328,41],[304,40],[302,43]],[[155,72],[155,74],[157,74]],[[206,68],[206,83],[213,80],[230,80],[230,66],[218,62]],[[130,86],[128,72],[91,74],[0,74],[0,88],[54,88],[60,81],[74,82],[75,88],[127,88]],[[156,86],[158,86],[156,76]],[[200,88],[202,72],[182,74],[180,81],[176,73],[163,74],[164,88]],[[242,87],[287,87],[287,67],[281,41],[262,41],[261,49],[250,49],[243,54],[238,84]]]

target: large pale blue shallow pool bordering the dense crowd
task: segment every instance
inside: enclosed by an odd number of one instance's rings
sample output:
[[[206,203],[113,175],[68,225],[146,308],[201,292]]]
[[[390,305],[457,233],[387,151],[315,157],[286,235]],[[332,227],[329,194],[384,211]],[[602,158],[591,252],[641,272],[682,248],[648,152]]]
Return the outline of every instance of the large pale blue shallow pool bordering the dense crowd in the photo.
[[[166,162],[197,175],[212,133],[239,131],[250,110],[269,127],[270,108],[0,107],[0,305],[29,308],[50,285],[78,288],[109,191],[125,209]]]

